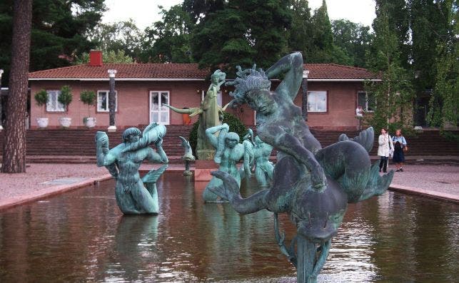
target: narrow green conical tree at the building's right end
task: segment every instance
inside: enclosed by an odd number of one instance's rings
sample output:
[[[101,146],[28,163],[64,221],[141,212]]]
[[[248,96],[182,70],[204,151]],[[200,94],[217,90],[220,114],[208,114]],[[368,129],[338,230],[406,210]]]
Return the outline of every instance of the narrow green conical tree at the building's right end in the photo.
[[[377,129],[408,128],[412,124],[407,110],[413,101],[410,73],[400,64],[398,36],[384,4],[376,6],[373,29],[375,38],[367,54],[368,62],[373,71],[380,73],[382,81],[365,83],[368,93],[375,98],[375,112],[368,116],[368,123]]]

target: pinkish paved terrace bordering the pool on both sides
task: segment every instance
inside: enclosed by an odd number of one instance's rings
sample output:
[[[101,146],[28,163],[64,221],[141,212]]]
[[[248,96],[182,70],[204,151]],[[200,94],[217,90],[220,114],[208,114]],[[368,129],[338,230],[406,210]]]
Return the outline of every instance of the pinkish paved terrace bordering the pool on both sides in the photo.
[[[141,170],[150,170],[152,166],[159,167],[144,164]],[[402,173],[395,173],[390,190],[459,204],[459,166],[408,165],[404,169]],[[184,166],[169,165],[168,170],[183,171]],[[0,210],[109,179],[105,168],[92,164],[32,163],[27,173],[0,173]]]

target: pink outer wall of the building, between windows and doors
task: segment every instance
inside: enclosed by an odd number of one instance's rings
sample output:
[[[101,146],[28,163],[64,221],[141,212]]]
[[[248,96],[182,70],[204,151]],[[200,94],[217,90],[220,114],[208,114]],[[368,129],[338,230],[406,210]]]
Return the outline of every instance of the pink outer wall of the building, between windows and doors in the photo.
[[[109,83],[88,81],[31,81],[31,128],[37,128],[36,118],[41,117],[42,108],[36,106],[34,95],[41,88],[46,90],[59,90],[62,86],[71,86],[74,100],[69,106],[69,112],[46,112],[49,118],[49,128],[59,128],[59,118],[71,117],[71,128],[84,127],[83,118],[88,115],[88,107],[79,101],[79,95],[83,90],[108,91]],[[274,85],[273,88],[276,86]],[[117,81],[118,110],[116,112],[116,125],[118,128],[127,128],[135,125],[149,123],[149,92],[169,91],[170,103],[177,108],[198,107],[201,102],[201,91],[206,91],[208,82],[205,81]],[[360,82],[310,82],[308,91],[327,91],[327,112],[308,113],[308,122],[312,128],[325,130],[354,130],[358,124],[355,119],[355,107],[357,105],[358,91],[363,90]],[[231,101],[228,92],[230,88],[223,88],[223,105]],[[296,96],[295,103],[301,106],[301,89]],[[104,127],[109,125],[109,113],[95,113],[96,107],[91,107],[91,117],[96,117],[97,125]],[[228,109],[228,112],[240,118],[244,124],[255,123],[254,112],[248,106],[238,109]],[[192,122],[196,121],[194,117]],[[183,125],[181,114],[170,111],[170,124]]]

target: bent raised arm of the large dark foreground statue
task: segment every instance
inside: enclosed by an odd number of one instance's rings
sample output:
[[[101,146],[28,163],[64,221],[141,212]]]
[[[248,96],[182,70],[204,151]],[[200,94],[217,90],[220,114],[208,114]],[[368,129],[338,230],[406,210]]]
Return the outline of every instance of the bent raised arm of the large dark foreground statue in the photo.
[[[288,54],[266,71],[268,78],[275,78],[285,73],[283,81],[276,88],[276,93],[295,99],[303,80],[303,56],[296,52]]]

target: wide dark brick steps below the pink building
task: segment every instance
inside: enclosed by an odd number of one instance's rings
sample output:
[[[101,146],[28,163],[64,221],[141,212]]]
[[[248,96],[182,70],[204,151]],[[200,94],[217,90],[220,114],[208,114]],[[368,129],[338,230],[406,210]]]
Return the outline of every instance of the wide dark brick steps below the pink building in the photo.
[[[139,128],[143,129],[143,126]],[[254,128],[254,127],[251,127]],[[164,137],[163,148],[171,163],[183,163],[180,160],[183,155],[181,140],[182,135],[188,138],[191,131],[190,125],[168,125],[167,134]],[[113,147],[121,143],[122,130],[116,133],[108,133],[110,145]],[[338,136],[343,132],[313,130],[313,134],[321,142],[322,146],[336,143]],[[459,130],[455,131],[459,134]],[[27,161],[30,163],[95,163],[96,149],[94,135],[96,130],[27,130]],[[358,135],[357,131],[345,132],[350,138]],[[0,133],[0,153],[3,150],[3,135]],[[411,160],[453,160],[459,164],[459,144],[446,140],[438,130],[424,130],[414,137],[407,137],[409,152],[406,157]],[[378,135],[375,136],[375,145],[370,156],[375,158],[378,151]],[[276,151],[273,150],[273,155]]]

